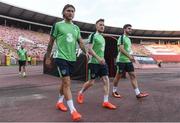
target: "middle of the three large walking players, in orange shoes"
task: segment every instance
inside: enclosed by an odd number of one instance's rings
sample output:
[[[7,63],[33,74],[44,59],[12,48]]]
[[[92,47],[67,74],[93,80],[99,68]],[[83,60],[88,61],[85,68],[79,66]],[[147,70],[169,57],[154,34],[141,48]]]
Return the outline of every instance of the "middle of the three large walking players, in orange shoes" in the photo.
[[[104,32],[104,19],[99,19],[96,22],[96,32],[89,36],[89,52],[92,55],[89,64],[89,80],[85,82],[82,89],[77,96],[78,103],[84,102],[84,94],[89,87],[91,87],[97,77],[101,77],[103,80],[104,88],[104,100],[102,106],[108,109],[116,109],[116,106],[109,102],[109,77],[108,66],[104,59],[105,39],[103,37]]]

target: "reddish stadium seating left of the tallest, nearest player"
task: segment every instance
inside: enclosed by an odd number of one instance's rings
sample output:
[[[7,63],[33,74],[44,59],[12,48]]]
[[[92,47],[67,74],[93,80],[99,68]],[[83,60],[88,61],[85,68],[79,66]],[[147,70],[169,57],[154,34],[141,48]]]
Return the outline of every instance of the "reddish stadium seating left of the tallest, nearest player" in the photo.
[[[43,60],[49,40],[48,34],[7,26],[0,26],[0,37],[1,42],[10,45],[13,49],[17,49],[23,43],[28,51],[28,55],[37,57],[37,60],[40,61]],[[10,50],[4,44],[4,48],[2,48],[4,49],[3,53],[10,53]],[[16,57],[16,55],[13,55],[13,57]]]

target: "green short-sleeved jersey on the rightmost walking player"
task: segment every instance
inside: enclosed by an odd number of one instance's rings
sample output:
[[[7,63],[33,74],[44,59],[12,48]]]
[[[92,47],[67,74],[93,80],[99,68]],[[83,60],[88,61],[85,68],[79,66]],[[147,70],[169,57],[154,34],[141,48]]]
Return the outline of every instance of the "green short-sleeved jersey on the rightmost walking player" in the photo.
[[[127,36],[127,35],[122,35],[119,37],[118,41],[117,41],[117,45],[119,47],[119,45],[123,45],[124,46],[124,50],[131,54],[132,50],[131,50],[131,39]],[[122,62],[122,63],[128,63],[131,62],[130,59],[124,55],[123,53],[119,52],[116,62]]]

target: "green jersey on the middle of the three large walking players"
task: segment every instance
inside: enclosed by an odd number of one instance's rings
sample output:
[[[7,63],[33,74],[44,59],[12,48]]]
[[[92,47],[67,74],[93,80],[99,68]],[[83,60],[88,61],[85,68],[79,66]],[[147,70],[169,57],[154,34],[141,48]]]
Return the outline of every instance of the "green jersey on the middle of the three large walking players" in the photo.
[[[104,58],[105,39],[102,36],[102,34],[100,34],[98,32],[92,33],[89,36],[89,43],[93,45],[92,49],[94,50],[94,52],[100,58]],[[94,56],[91,57],[89,63],[99,64],[99,62],[97,61],[97,59]]]

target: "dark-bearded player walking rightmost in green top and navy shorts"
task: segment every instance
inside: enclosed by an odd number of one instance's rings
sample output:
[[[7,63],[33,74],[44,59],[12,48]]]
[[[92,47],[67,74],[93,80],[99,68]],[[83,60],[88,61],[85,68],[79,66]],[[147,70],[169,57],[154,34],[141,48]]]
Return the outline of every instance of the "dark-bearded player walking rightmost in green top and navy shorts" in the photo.
[[[131,24],[125,24],[123,26],[123,34],[118,39],[118,56],[116,59],[116,65],[117,65],[117,72],[116,76],[113,80],[113,97],[121,98],[122,96],[118,94],[117,92],[117,86],[120,78],[122,77],[124,72],[128,72],[129,78],[131,81],[131,84],[134,88],[136,98],[143,98],[147,97],[148,93],[140,92],[138,88],[138,82],[136,79],[136,75],[134,72],[134,66],[133,62],[135,62],[135,59],[132,55],[132,49],[131,49],[131,39],[129,38],[129,35],[132,33],[132,26]]]

